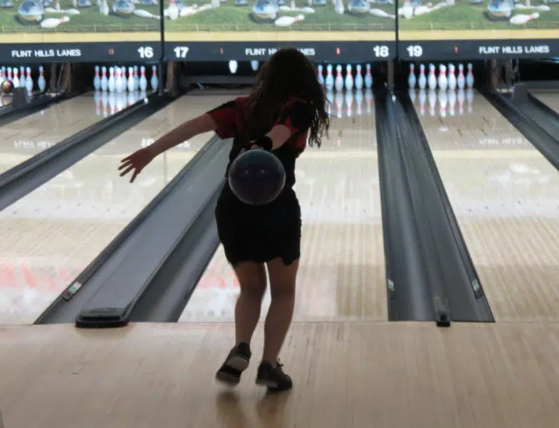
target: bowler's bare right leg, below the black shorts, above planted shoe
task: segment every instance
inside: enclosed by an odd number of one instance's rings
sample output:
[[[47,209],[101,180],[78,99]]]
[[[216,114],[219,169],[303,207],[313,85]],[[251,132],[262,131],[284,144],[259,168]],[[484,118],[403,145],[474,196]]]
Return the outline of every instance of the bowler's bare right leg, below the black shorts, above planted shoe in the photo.
[[[295,282],[299,260],[284,265],[281,258],[268,262],[272,301],[264,325],[264,354],[262,360],[276,365],[285,340],[295,305]]]

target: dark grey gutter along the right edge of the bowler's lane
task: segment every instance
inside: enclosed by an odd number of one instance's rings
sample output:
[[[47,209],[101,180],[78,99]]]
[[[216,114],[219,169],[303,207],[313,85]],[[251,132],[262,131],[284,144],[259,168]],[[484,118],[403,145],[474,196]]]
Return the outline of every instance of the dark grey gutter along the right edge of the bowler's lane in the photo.
[[[413,200],[403,163],[401,126],[393,113],[394,99],[385,88],[374,91],[386,264],[388,320],[435,320],[433,293],[428,284]],[[445,315],[440,315],[443,322]]]

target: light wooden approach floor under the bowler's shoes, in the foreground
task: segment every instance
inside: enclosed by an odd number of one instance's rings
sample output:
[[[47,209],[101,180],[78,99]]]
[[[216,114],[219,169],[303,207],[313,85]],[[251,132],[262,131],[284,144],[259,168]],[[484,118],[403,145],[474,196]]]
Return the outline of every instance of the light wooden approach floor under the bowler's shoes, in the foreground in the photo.
[[[213,377],[233,325],[0,330],[6,428],[532,428],[559,419],[558,325],[299,322],[291,392],[266,394],[253,361]],[[32,405],[33,411],[30,411]]]

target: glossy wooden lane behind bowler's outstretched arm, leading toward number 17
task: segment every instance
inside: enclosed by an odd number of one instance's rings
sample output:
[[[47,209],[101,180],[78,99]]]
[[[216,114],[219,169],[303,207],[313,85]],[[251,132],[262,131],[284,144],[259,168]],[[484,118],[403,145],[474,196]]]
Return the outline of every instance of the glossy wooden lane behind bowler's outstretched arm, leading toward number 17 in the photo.
[[[196,154],[210,134],[156,158],[134,185],[119,161],[235,96],[184,96],[0,213],[0,325],[30,324]]]

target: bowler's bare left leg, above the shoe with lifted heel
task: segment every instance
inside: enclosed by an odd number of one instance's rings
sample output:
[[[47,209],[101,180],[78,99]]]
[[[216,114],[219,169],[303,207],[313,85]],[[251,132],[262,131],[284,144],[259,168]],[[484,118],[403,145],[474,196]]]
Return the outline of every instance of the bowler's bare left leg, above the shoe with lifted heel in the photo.
[[[266,271],[263,264],[243,262],[235,266],[235,274],[241,285],[235,306],[236,345],[241,342],[250,344],[266,292]]]

